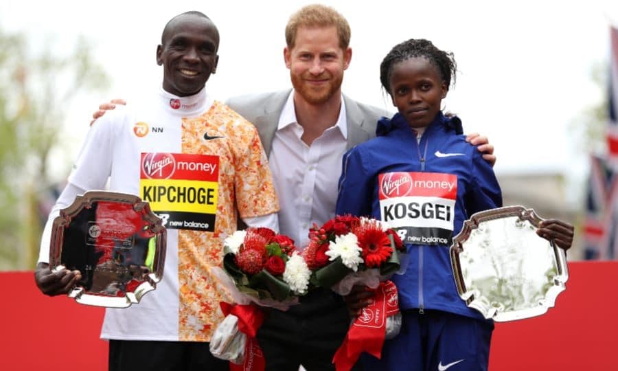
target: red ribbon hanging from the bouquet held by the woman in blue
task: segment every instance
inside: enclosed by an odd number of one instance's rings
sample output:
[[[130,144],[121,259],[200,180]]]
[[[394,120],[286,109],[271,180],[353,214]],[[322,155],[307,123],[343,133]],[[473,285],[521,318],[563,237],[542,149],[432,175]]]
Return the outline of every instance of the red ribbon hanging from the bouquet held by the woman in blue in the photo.
[[[397,287],[393,282],[380,282],[373,302],[365,306],[337,349],[332,363],[336,371],[349,371],[362,352],[380,359],[386,333],[386,319],[399,313]]]

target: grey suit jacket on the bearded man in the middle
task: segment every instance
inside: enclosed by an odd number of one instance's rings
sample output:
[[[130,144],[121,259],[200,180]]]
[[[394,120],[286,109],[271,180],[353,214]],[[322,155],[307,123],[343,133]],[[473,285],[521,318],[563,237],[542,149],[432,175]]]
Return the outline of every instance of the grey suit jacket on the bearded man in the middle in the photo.
[[[258,128],[260,140],[262,140],[262,146],[267,155],[271,154],[271,144],[275,131],[277,131],[279,116],[289,95],[290,90],[284,90],[242,95],[227,101],[231,109]],[[375,137],[376,123],[380,117],[391,116],[388,111],[356,102],[345,95],[343,95],[343,101],[347,118],[347,149]]]

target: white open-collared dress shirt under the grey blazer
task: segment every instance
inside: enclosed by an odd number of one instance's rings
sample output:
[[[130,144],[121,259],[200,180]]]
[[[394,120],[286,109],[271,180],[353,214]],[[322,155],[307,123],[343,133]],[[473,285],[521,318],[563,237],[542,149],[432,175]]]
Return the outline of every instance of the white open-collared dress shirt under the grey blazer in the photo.
[[[307,146],[301,140],[304,129],[296,120],[293,97],[291,91],[268,161],[281,205],[279,231],[303,249],[313,223],[321,226],[334,216],[341,158],[347,146],[347,120],[342,98],[336,124]]]

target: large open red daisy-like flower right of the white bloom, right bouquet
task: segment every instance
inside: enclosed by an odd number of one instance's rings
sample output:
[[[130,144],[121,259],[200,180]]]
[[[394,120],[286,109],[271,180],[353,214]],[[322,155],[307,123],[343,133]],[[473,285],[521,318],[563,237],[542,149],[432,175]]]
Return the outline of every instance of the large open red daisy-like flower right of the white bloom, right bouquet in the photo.
[[[363,225],[356,228],[354,234],[358,237],[358,246],[363,249],[363,260],[368,268],[380,267],[393,254],[391,240],[380,225]]]

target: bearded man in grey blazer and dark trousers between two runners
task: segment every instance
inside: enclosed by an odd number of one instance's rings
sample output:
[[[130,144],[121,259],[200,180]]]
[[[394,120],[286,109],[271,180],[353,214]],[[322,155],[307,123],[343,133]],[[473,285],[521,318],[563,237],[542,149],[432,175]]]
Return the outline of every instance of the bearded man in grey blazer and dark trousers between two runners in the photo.
[[[350,26],[332,8],[309,5],[286,26],[284,57],[294,89],[231,98],[258,127],[282,210],[279,229],[304,247],[312,223],[334,216],[345,150],[375,136],[387,111],[341,93],[352,57]],[[276,174],[276,175],[275,175]],[[310,293],[288,311],[268,310],[258,331],[266,370],[334,370],[332,357],[350,326],[341,297]]]

